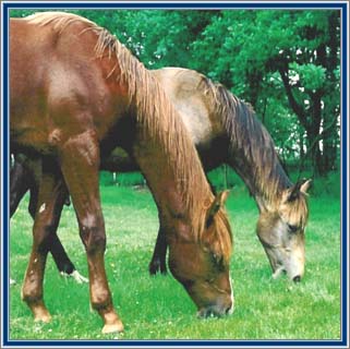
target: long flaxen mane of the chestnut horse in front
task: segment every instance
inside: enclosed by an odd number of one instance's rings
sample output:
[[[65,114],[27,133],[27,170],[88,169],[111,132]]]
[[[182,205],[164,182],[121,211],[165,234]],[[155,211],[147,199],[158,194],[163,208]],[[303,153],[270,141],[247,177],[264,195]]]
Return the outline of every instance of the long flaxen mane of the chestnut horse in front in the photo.
[[[64,12],[37,13],[27,19],[41,26],[51,24],[59,34],[69,25],[80,22],[85,24],[81,35],[86,32],[96,34],[96,58],[116,59],[116,65],[107,79],[114,76],[119,83],[128,86],[130,100],[136,106],[137,123],[142,125],[147,137],[159,143],[159,152],[162,151],[168,159],[183,202],[197,227],[201,227],[205,216],[204,203],[201,204],[201,200],[213,201],[214,195],[191,137],[156,79],[113,35],[86,19]],[[114,71],[117,65],[120,68],[118,74]],[[202,232],[203,229],[197,231]],[[202,237],[196,239],[201,241]],[[231,237],[221,236],[218,239],[227,242]],[[230,253],[227,249],[222,250],[225,254]]]

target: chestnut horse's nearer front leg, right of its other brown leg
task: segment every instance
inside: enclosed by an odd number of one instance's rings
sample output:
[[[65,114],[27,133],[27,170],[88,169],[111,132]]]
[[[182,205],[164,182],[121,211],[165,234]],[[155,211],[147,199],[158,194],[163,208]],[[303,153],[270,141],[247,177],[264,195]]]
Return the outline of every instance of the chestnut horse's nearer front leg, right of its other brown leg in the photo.
[[[106,233],[99,196],[99,148],[93,132],[86,131],[60,148],[61,169],[72,197],[84,243],[92,306],[104,320],[102,333],[122,332],[112,304],[105,270]]]

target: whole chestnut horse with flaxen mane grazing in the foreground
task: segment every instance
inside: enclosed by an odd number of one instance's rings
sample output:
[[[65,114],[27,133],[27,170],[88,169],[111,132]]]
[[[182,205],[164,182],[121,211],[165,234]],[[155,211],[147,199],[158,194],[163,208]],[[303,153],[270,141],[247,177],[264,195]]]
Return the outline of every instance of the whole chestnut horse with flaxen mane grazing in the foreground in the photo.
[[[136,160],[159,209],[169,267],[200,314],[229,313],[232,236],[177,111],[147,70],[106,29],[57,12],[10,21],[11,153],[41,156],[33,248],[22,298],[49,321],[43,278],[64,203],[72,197],[85,245],[90,302],[104,333],[123,330],[107,282],[100,158],[117,145]],[[161,169],[161,171],[159,171]]]

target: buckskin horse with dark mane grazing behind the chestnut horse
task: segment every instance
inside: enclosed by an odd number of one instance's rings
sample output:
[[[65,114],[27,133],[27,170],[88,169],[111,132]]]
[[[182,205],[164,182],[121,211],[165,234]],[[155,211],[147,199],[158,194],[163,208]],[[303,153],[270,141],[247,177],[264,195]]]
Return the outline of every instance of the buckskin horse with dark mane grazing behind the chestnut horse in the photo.
[[[260,210],[257,236],[270,262],[273,276],[276,278],[285,270],[290,279],[299,281],[304,274],[310,180],[292,185],[271,137],[253,109],[222,85],[188,69],[164,68],[150,73],[181,116],[205,170],[228,164],[248,185]],[[104,159],[101,168],[138,170],[137,164],[121,148]],[[27,177],[33,176],[33,171],[32,174],[28,170],[23,171],[28,172]],[[19,196],[16,191],[14,186],[11,197]],[[32,191],[36,191],[35,185]],[[63,250],[59,243],[57,249]],[[160,229],[149,264],[150,274],[166,273],[166,252],[167,243]],[[70,265],[71,262],[65,258],[64,263]]]

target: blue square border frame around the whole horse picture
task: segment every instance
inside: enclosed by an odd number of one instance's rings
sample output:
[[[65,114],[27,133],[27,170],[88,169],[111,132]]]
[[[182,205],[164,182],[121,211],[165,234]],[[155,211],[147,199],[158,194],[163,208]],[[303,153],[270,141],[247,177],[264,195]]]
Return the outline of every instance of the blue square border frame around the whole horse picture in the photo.
[[[9,10],[13,9],[334,9],[341,11],[341,339],[340,340],[11,340],[9,338]],[[1,156],[1,236],[2,297],[1,346],[3,347],[321,347],[347,348],[348,342],[348,1],[327,2],[16,2],[1,3],[2,22],[2,142]]]

